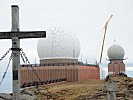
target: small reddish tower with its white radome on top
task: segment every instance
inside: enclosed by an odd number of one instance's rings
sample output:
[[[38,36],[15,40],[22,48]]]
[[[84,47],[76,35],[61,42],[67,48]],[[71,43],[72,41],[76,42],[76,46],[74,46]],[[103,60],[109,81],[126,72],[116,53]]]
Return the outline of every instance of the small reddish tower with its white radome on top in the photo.
[[[109,47],[107,51],[107,55],[109,57],[109,64],[108,64],[108,74],[125,74],[125,64],[123,63],[124,60],[124,49],[119,45],[112,45]]]

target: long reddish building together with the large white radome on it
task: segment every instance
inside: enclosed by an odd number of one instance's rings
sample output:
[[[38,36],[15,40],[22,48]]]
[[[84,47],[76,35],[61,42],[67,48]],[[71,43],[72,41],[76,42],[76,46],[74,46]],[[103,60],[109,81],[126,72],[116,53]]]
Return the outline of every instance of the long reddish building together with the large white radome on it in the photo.
[[[38,40],[37,52],[40,64],[32,68],[44,83],[100,79],[98,65],[78,61],[80,42],[76,35],[63,28],[47,31],[46,38]],[[21,86],[39,81],[32,68],[21,66]]]

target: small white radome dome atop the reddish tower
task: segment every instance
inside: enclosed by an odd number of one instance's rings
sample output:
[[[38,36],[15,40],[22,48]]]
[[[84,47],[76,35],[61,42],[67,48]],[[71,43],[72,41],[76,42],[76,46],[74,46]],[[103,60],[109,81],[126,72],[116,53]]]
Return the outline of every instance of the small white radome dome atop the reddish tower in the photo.
[[[123,59],[125,52],[121,46],[114,44],[109,47],[107,54],[110,60],[115,60],[115,59],[120,60]]]

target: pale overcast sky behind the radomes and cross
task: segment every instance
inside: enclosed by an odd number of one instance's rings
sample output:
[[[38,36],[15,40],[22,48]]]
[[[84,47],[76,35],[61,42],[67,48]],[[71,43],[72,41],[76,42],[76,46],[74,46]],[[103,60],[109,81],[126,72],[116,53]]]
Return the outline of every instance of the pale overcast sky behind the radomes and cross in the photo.
[[[83,59],[99,61],[103,27],[111,19],[103,51],[107,62],[107,49],[116,43],[125,50],[126,63],[133,60],[133,0],[0,0],[0,31],[11,30],[11,5],[20,9],[20,30],[47,30],[61,26],[76,34],[81,43]],[[32,63],[39,63],[37,40],[21,40],[21,47]],[[0,56],[11,47],[11,40],[0,40]],[[80,59],[80,57],[79,57]]]

